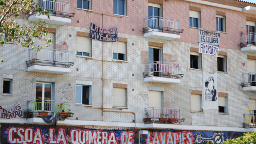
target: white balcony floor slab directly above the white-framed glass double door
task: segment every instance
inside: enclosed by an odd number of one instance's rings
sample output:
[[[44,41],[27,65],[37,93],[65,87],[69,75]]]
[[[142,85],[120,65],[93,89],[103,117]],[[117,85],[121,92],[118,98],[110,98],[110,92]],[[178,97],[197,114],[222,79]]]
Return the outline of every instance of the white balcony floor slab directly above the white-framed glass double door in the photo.
[[[64,67],[53,67],[53,66],[40,66],[40,65],[33,65],[28,67],[28,71],[37,71],[43,73],[54,73],[54,74],[67,74],[71,73],[70,68]]]

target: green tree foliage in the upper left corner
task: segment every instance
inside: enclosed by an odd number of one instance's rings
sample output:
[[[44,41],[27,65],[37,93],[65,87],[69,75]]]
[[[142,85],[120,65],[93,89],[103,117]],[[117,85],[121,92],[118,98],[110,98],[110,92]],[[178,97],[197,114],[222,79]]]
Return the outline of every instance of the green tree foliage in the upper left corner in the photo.
[[[49,46],[52,38],[45,39],[48,33],[45,21],[28,21],[27,24],[17,22],[18,19],[27,20],[31,14],[44,14],[50,19],[49,13],[40,9],[36,0],[0,0],[0,46],[11,41],[39,51],[42,46],[34,44],[35,38],[44,39],[46,46]]]

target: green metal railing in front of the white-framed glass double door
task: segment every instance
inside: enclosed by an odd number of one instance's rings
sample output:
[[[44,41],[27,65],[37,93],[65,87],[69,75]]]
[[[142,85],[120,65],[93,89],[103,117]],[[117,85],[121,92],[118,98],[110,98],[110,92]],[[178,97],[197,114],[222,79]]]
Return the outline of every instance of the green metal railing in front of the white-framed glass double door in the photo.
[[[68,112],[68,102],[54,102],[52,100],[30,100],[28,108],[33,112],[49,111],[51,113]]]

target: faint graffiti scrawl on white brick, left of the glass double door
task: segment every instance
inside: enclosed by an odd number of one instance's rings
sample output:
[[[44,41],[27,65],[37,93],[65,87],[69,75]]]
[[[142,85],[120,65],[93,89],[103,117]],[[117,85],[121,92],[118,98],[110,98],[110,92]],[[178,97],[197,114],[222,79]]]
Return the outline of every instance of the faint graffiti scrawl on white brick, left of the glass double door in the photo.
[[[26,93],[30,93],[33,91],[33,79],[22,79],[19,83],[19,89],[18,91],[21,91],[22,95],[21,97],[27,97]]]

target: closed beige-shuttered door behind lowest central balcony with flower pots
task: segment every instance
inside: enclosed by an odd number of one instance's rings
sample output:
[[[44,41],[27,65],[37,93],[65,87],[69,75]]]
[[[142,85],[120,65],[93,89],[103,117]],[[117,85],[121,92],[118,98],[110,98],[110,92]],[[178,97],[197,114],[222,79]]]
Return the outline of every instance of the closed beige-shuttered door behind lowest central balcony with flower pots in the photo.
[[[160,117],[162,113],[162,92],[149,91],[149,108],[151,117]]]

